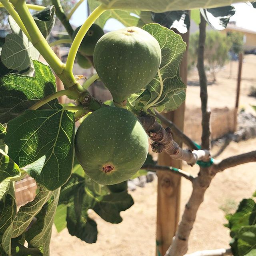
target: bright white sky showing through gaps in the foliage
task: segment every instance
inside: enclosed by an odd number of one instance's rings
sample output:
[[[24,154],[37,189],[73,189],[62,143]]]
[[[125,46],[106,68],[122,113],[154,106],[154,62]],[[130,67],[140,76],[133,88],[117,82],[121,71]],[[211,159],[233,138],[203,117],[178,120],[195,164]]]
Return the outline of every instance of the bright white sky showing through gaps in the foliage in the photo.
[[[230,21],[236,21],[236,25],[241,28],[256,31],[256,8],[252,8],[247,3],[234,4],[236,13],[230,18]],[[87,17],[87,2],[84,1],[76,12],[73,14],[70,23],[75,26],[80,26],[84,23]],[[124,26],[117,20],[110,19],[107,21],[104,29],[107,31],[117,30]]]

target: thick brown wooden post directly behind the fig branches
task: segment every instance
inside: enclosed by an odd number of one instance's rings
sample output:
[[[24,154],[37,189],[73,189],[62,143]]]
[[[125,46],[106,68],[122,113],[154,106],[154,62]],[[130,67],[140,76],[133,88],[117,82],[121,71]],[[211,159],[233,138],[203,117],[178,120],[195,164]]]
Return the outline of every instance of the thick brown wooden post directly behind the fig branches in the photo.
[[[177,30],[175,31],[176,33]],[[179,34],[179,33],[178,33]],[[189,41],[189,31],[186,34],[181,34],[183,41]],[[180,77],[184,84],[187,84],[187,64],[188,51],[184,53],[180,65]],[[184,113],[185,102],[173,112],[165,114],[165,116],[174,122],[180,130],[184,128]],[[174,135],[174,134],[173,134]],[[174,140],[182,146],[182,142],[174,135]],[[160,165],[173,166],[176,168],[182,167],[181,160],[173,160],[166,153],[159,154],[158,163]],[[157,223],[156,223],[156,255],[162,256],[166,253],[172,238],[175,235],[179,218],[180,218],[180,176],[170,172],[158,171],[158,198],[157,198]]]

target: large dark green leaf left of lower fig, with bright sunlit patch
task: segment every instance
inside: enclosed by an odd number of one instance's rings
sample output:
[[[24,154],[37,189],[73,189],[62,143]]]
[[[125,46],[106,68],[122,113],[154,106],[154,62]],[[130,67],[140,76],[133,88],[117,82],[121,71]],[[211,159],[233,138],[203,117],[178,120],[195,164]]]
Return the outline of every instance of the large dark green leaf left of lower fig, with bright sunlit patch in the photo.
[[[8,155],[20,168],[26,166],[36,182],[55,190],[66,183],[72,172],[74,128],[74,112],[63,108],[26,110],[8,122]]]

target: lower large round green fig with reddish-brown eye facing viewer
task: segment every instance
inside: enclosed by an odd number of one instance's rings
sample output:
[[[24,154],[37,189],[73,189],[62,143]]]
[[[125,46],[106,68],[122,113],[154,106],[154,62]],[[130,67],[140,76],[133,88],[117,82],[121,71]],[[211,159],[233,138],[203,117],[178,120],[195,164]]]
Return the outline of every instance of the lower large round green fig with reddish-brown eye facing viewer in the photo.
[[[148,137],[130,111],[100,108],[79,126],[75,152],[92,180],[112,185],[128,180],[141,168],[148,153]]]

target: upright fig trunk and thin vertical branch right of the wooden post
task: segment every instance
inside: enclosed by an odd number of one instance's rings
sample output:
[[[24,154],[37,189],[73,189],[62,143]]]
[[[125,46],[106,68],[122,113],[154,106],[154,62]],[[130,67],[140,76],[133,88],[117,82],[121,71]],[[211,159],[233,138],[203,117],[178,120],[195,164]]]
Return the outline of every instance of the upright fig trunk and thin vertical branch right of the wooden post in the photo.
[[[204,45],[206,38],[206,20],[200,14],[198,41],[198,74],[200,79],[200,98],[202,104],[202,148],[210,150],[210,110],[208,109],[207,79],[204,71]],[[188,239],[196,220],[196,214],[202,202],[206,189],[210,186],[214,174],[211,167],[200,166],[198,177],[193,180],[193,190],[186,204],[182,220],[178,226],[175,238],[165,256],[183,256],[188,251]]]

